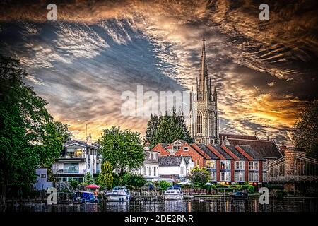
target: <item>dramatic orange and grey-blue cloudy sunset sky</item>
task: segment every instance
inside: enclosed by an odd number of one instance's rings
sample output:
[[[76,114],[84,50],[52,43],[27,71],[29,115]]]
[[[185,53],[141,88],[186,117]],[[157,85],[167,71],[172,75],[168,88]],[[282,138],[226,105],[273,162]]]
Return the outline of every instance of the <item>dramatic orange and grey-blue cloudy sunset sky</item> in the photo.
[[[76,138],[86,123],[94,139],[113,125],[144,133],[148,117],[122,115],[122,93],[189,90],[203,35],[221,132],[290,142],[298,112],[317,98],[315,0],[25,2],[0,4],[0,54],[20,59],[25,83]],[[269,21],[259,20],[262,3]]]

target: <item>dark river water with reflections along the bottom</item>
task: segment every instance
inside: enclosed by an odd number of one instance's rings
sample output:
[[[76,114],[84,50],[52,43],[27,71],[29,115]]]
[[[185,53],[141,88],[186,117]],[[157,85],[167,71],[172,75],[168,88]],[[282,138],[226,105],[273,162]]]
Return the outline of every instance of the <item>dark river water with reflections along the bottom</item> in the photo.
[[[269,205],[261,205],[257,199],[230,200],[215,198],[213,200],[182,201],[130,201],[105,202],[100,204],[69,204],[47,206],[45,203],[8,205],[6,211],[12,212],[317,212],[317,198],[285,198],[270,200]]]

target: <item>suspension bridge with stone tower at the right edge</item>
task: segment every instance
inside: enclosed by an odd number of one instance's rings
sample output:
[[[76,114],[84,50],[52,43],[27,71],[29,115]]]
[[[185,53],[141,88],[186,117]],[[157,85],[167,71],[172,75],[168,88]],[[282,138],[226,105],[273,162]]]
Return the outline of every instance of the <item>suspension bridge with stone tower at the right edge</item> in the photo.
[[[305,153],[293,151],[270,162],[267,167],[268,182],[318,182],[318,160]]]

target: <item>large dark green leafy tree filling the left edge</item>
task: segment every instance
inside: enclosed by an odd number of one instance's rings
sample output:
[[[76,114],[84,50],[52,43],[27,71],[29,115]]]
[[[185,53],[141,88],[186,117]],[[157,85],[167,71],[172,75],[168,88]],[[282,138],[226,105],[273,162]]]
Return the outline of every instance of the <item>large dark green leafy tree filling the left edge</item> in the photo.
[[[47,102],[23,79],[16,59],[0,56],[0,184],[35,182],[35,168],[51,167],[64,136],[47,112]]]

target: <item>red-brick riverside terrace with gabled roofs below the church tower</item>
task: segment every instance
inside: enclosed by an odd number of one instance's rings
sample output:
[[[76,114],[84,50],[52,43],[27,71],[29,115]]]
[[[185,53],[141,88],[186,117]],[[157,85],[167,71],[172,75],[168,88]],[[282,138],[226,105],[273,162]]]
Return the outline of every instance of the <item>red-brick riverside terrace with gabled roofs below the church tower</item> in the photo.
[[[266,182],[268,160],[263,155],[270,156],[271,159],[277,159],[280,155],[279,152],[273,152],[271,148],[268,149],[269,151],[262,148],[258,152],[251,145],[231,145],[226,139],[223,140],[222,145],[205,145],[177,140],[171,144],[159,143],[155,145],[153,150],[158,151],[159,159],[164,156],[167,159],[174,157],[182,162],[182,158],[179,156],[192,157],[195,167],[206,167],[210,172],[211,181],[225,184],[249,182],[257,185]],[[165,167],[167,167],[168,161],[164,162]],[[181,165],[182,163],[179,162],[177,163]],[[159,172],[161,165],[159,165]]]

